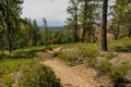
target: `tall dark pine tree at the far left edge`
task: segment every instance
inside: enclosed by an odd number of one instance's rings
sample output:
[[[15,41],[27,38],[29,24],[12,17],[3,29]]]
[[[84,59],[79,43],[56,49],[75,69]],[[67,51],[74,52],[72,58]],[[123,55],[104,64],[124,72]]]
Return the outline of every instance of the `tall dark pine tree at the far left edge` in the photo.
[[[21,14],[21,4],[23,3],[23,0],[2,0],[0,1],[0,7],[1,7],[1,12],[2,12],[2,16],[1,17],[1,22],[3,22],[4,26],[4,30],[5,30],[5,37],[7,37],[7,41],[8,41],[8,48],[9,51],[11,52],[14,47],[13,47],[13,41],[15,32],[17,29],[17,23],[19,23],[19,18],[20,18],[20,14]]]

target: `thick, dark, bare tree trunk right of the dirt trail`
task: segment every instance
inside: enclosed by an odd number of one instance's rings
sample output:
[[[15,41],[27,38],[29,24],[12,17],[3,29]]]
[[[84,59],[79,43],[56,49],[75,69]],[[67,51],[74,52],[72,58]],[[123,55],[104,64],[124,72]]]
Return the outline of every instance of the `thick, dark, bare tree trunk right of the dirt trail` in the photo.
[[[103,25],[102,25],[102,51],[108,51],[107,49],[107,10],[108,0],[103,2]]]

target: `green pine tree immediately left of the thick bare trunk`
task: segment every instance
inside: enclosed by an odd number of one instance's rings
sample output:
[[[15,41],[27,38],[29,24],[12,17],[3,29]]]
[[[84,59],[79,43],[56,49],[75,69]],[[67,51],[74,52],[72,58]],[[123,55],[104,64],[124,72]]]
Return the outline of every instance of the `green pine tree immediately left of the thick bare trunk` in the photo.
[[[83,28],[82,41],[83,42],[85,40],[87,42],[93,41],[95,36],[95,29],[93,27],[93,24],[95,23],[95,16],[97,15],[96,13],[97,4],[93,0],[79,0],[79,2],[81,4],[79,18],[80,18],[81,28]]]

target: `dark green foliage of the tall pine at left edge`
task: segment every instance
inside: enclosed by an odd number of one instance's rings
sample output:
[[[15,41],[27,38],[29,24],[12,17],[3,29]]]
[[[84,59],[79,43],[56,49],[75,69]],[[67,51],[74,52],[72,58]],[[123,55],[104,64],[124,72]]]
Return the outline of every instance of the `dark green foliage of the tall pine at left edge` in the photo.
[[[17,29],[20,25],[20,14],[23,0],[3,0],[0,1],[0,41],[10,52],[14,49],[13,45],[17,42]]]

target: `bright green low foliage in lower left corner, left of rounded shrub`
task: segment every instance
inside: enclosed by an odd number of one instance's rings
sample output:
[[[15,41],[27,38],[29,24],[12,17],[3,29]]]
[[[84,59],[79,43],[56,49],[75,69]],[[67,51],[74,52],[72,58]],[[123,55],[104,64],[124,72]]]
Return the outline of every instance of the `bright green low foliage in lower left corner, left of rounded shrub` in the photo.
[[[14,60],[10,58],[0,60],[0,83],[2,83],[4,86],[8,86],[8,87],[12,86],[15,78],[14,77],[15,73],[19,72],[20,67],[23,64],[26,64],[32,61],[35,61],[35,60],[27,60],[27,59]]]

